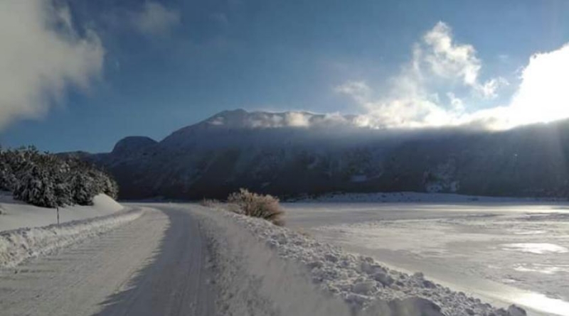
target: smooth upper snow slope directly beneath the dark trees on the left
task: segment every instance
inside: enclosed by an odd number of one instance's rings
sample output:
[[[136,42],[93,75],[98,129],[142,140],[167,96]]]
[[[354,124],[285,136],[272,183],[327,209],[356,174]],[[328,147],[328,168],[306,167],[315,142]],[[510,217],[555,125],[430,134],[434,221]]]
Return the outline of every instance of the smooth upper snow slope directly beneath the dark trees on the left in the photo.
[[[60,223],[114,214],[120,209],[123,209],[122,205],[107,195],[100,194],[93,198],[92,206],[60,207]],[[0,191],[0,212],[0,231],[57,224],[55,209],[16,201],[9,192]]]

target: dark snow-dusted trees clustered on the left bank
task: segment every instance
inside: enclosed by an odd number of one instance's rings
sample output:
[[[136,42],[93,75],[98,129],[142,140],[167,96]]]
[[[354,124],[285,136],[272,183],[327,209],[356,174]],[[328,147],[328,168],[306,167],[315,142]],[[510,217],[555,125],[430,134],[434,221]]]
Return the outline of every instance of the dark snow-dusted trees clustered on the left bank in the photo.
[[[118,196],[117,182],[94,165],[34,147],[0,148],[0,190],[40,207],[92,205],[100,193]]]

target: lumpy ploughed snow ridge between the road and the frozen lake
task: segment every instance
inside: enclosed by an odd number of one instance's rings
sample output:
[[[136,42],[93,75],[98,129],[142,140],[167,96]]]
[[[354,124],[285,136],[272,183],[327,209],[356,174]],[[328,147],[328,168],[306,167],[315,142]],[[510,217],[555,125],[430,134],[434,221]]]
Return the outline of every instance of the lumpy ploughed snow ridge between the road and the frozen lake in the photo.
[[[349,254],[338,246],[317,241],[294,229],[277,227],[262,219],[244,217],[230,212],[224,212],[224,214],[227,217],[233,217],[235,222],[243,225],[246,231],[252,233],[251,236],[255,236],[257,240],[265,243],[277,254],[278,258],[274,255],[263,258],[264,256],[260,256],[262,251],[259,249],[251,253],[250,249],[255,248],[254,243],[238,242],[237,247],[243,248],[243,245],[246,245],[245,249],[240,249],[240,252],[250,253],[250,256],[255,258],[255,264],[252,266],[256,266],[254,269],[257,274],[278,276],[278,280],[273,280],[270,282],[272,286],[267,287],[272,292],[271,297],[273,299],[282,297],[282,289],[289,288],[285,290],[285,293],[292,295],[287,295],[289,297],[287,301],[294,302],[292,304],[294,306],[302,306],[294,312],[276,315],[526,315],[524,310],[514,305],[504,306],[504,308],[489,305],[479,298],[473,298],[444,285],[433,283],[422,273],[405,273],[388,268],[369,256]],[[238,234],[233,235],[230,240],[238,236]],[[275,270],[275,267],[271,268],[267,265],[272,261],[283,259],[287,264],[282,268]],[[300,263],[299,266],[298,263]],[[243,266],[243,264],[228,266]],[[287,267],[292,268],[292,271],[288,271]],[[307,271],[308,275],[302,271]],[[298,278],[298,276],[304,277]],[[261,278],[262,282],[265,282],[265,278],[267,277]],[[319,290],[317,288],[302,290],[302,287],[299,288],[299,285],[303,283],[302,279],[312,279],[312,283],[321,290],[334,293],[334,298],[342,298],[344,303],[347,303],[350,312],[345,310],[345,307],[341,310],[341,305],[334,304],[332,300],[326,303],[314,300],[314,295],[319,293]],[[267,292],[263,291],[263,293]],[[319,306],[334,307],[331,310],[322,310]],[[284,309],[280,308],[280,310]]]

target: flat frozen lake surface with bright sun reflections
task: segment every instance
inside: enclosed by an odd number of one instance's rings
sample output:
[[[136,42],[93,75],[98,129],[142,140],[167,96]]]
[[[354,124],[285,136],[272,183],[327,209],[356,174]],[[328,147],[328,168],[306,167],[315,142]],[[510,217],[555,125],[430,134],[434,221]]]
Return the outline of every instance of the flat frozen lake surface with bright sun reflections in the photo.
[[[569,315],[569,204],[287,203],[287,226],[530,315]]]

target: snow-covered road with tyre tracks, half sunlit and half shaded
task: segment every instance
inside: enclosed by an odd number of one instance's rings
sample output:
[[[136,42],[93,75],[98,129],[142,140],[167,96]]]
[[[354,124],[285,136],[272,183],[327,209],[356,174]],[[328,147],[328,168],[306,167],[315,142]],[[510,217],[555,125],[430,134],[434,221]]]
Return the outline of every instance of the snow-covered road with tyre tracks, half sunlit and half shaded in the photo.
[[[133,222],[0,274],[0,315],[212,315],[206,246],[189,212]]]

